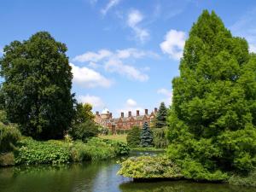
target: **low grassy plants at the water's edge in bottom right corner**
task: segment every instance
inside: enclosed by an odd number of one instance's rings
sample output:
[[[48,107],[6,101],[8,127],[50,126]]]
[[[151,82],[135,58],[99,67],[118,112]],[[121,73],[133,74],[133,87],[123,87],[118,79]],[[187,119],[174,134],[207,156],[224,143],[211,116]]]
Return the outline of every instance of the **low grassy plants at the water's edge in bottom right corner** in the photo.
[[[229,183],[247,187],[256,187],[256,171],[253,170],[246,176],[232,175],[229,179]]]

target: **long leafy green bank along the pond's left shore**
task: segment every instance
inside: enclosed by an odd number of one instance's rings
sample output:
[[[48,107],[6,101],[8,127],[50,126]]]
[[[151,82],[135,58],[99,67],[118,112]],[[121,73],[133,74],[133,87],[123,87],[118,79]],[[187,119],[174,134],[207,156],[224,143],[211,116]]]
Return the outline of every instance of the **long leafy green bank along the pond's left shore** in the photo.
[[[60,164],[84,160],[108,160],[128,153],[129,148],[125,143],[96,137],[91,138],[87,143],[60,140],[39,142],[26,137],[17,144],[14,152],[1,154],[0,165]]]

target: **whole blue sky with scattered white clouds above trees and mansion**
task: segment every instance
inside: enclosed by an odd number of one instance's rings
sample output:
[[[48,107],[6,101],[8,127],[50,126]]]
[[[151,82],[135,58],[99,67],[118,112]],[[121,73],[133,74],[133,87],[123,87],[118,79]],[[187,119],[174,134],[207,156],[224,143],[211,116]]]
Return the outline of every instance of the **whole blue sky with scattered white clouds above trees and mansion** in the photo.
[[[93,111],[152,111],[172,104],[183,45],[203,9],[214,10],[256,52],[256,1],[0,0],[0,56],[39,31],[67,44],[72,92]]]

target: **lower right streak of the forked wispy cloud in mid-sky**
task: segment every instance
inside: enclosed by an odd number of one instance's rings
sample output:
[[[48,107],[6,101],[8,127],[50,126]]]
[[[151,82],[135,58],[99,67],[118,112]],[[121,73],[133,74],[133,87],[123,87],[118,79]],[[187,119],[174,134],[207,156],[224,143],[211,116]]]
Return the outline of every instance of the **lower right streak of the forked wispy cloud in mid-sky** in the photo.
[[[148,80],[148,75],[145,73],[142,73],[139,69],[125,65],[121,60],[119,59],[110,59],[105,64],[106,71],[110,73],[119,73],[120,75],[123,75],[127,77],[128,79],[134,79],[141,82]]]

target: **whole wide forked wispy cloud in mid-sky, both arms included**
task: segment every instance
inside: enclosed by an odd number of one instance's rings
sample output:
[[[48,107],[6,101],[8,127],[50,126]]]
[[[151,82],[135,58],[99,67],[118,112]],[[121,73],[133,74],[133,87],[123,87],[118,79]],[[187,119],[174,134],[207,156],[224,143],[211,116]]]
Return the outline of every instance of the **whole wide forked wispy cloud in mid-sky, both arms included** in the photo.
[[[86,52],[83,55],[77,55],[73,61],[89,62],[89,67],[97,68],[103,66],[107,72],[119,73],[128,79],[138,81],[147,81],[148,75],[144,72],[149,68],[143,67],[141,69],[125,64],[127,59],[141,59],[143,57],[159,58],[159,55],[153,51],[140,50],[135,48],[117,49],[110,51],[108,49],[101,49],[98,52]]]

